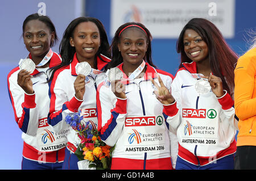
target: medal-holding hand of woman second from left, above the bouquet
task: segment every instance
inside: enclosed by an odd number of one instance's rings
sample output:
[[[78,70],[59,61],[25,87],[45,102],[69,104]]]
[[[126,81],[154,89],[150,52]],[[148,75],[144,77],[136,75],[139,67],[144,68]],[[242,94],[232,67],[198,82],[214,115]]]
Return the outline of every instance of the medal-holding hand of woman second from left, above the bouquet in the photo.
[[[84,92],[85,92],[85,76],[82,74],[78,74],[77,78],[74,82],[75,88],[75,95],[76,98],[79,100],[84,99]]]

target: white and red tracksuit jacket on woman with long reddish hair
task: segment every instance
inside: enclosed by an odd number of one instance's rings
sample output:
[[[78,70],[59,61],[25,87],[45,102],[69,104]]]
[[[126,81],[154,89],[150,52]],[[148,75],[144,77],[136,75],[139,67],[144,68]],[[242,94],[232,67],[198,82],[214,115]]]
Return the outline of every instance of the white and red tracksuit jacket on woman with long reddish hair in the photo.
[[[217,98],[211,90],[199,95],[193,74],[196,62],[183,63],[171,85],[176,102],[164,106],[164,113],[170,131],[177,134],[179,157],[203,166],[236,152],[237,121],[231,96],[225,91]]]

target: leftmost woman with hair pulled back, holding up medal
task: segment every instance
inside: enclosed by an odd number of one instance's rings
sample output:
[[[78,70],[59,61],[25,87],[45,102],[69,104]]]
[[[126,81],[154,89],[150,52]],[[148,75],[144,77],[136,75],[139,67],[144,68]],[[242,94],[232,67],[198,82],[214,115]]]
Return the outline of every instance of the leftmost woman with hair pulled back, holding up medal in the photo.
[[[51,50],[57,40],[55,26],[48,16],[31,14],[23,22],[23,40],[28,57],[7,78],[15,120],[23,132],[22,169],[61,169],[67,139],[57,139],[61,130],[55,132],[47,123],[47,80],[53,66],[61,62]]]

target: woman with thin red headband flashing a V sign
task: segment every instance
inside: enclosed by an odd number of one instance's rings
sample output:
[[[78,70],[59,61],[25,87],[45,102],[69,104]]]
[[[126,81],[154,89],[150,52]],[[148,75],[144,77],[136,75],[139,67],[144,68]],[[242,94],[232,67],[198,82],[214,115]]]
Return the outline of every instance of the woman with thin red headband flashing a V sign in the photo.
[[[172,169],[177,141],[171,134],[171,161],[163,105],[151,79],[161,77],[170,89],[173,76],[152,63],[150,32],[141,23],[123,24],[112,55],[108,80],[97,91],[98,130],[106,144],[115,145],[111,169]]]

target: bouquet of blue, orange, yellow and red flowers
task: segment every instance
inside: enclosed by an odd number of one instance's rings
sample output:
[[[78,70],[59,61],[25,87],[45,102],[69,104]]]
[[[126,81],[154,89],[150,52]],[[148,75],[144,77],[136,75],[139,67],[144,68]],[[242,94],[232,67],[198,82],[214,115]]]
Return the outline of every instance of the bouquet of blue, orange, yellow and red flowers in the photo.
[[[77,132],[81,142],[75,151],[79,161],[88,160],[89,168],[110,169],[114,146],[108,146],[99,136],[92,121],[82,121],[81,110],[65,117],[65,121]]]

